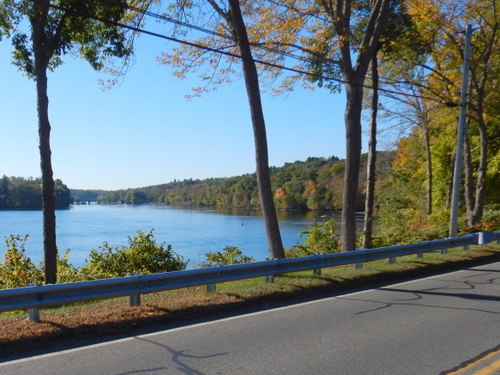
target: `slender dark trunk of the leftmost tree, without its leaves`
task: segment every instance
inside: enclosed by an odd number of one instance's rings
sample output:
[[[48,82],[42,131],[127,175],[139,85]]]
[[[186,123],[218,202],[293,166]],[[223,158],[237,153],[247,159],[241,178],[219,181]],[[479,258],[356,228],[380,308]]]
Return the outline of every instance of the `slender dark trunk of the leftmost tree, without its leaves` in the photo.
[[[32,41],[35,55],[35,79],[37,92],[38,135],[40,149],[40,168],[42,172],[42,210],[43,210],[43,251],[45,283],[57,281],[57,245],[54,179],[50,150],[49,99],[47,96],[47,56],[44,28],[48,14],[49,1],[40,1],[35,5],[35,14],[31,19]]]

